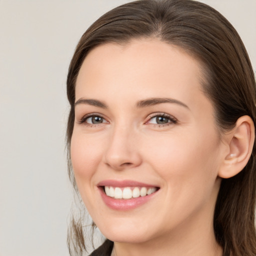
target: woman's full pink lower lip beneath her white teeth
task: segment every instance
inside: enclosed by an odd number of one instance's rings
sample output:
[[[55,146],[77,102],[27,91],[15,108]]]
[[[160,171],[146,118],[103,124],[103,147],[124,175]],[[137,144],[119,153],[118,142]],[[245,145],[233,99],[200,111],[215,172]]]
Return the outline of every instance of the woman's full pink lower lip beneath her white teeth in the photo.
[[[103,190],[102,187],[98,187],[100,191],[100,195],[104,201],[104,203],[111,209],[114,210],[130,210],[134,209],[136,207],[141,206],[142,204],[146,203],[148,200],[150,200],[156,192],[145,195],[145,196],[139,196],[136,198],[131,199],[114,199],[110,196],[107,196]]]

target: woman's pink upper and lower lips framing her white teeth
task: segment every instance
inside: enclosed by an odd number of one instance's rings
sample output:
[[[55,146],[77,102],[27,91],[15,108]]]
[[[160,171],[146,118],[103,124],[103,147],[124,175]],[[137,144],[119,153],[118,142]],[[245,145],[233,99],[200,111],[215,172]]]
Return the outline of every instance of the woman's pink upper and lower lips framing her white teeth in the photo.
[[[155,185],[151,184],[145,184],[133,180],[122,180],[122,181],[117,181],[117,180],[103,180],[98,183],[98,189],[100,192],[100,195],[102,197],[102,200],[104,203],[111,209],[114,210],[131,210],[136,207],[139,207],[140,205],[146,203],[150,199],[152,199],[155,194],[157,193],[154,192],[149,195],[145,196],[139,196],[136,198],[130,198],[130,199],[114,199],[110,196],[107,196],[104,192],[104,189],[102,186],[114,186],[114,187],[124,187],[124,186],[145,186],[145,187],[157,187]]]

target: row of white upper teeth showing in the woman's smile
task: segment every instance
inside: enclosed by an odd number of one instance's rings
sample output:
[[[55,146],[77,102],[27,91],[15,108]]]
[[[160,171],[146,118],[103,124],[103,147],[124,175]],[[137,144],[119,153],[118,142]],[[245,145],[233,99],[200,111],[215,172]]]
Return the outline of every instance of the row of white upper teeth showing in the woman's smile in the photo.
[[[115,199],[130,199],[131,197],[145,196],[156,191],[156,187],[112,187],[105,186],[105,193]]]

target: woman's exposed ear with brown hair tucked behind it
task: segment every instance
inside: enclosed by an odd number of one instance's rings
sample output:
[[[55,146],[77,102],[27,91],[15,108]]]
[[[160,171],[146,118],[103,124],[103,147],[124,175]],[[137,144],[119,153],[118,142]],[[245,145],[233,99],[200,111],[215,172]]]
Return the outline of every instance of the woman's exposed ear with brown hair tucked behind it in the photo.
[[[228,153],[219,168],[218,176],[229,178],[240,172],[250,158],[255,136],[252,119],[248,115],[239,117],[235,127],[223,136]]]

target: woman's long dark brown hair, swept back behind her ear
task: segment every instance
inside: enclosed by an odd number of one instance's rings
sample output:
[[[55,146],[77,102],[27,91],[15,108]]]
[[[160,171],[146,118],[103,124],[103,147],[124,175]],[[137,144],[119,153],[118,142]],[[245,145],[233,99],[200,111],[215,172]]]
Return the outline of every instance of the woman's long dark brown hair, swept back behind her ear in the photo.
[[[96,20],[82,35],[67,75],[70,112],[66,143],[68,173],[77,191],[70,161],[74,123],[75,82],[87,53],[107,43],[127,43],[134,38],[155,37],[176,45],[204,66],[205,94],[214,105],[220,131],[231,129],[242,115],[256,123],[255,77],[245,47],[233,26],[216,10],[192,0],[139,0],[116,7]],[[254,208],[255,153],[234,177],[222,179],[214,212],[214,233],[224,256],[256,255]],[[85,251],[82,219],[72,219],[69,250]],[[73,244],[73,245],[72,245]],[[103,254],[102,254],[103,255]]]

